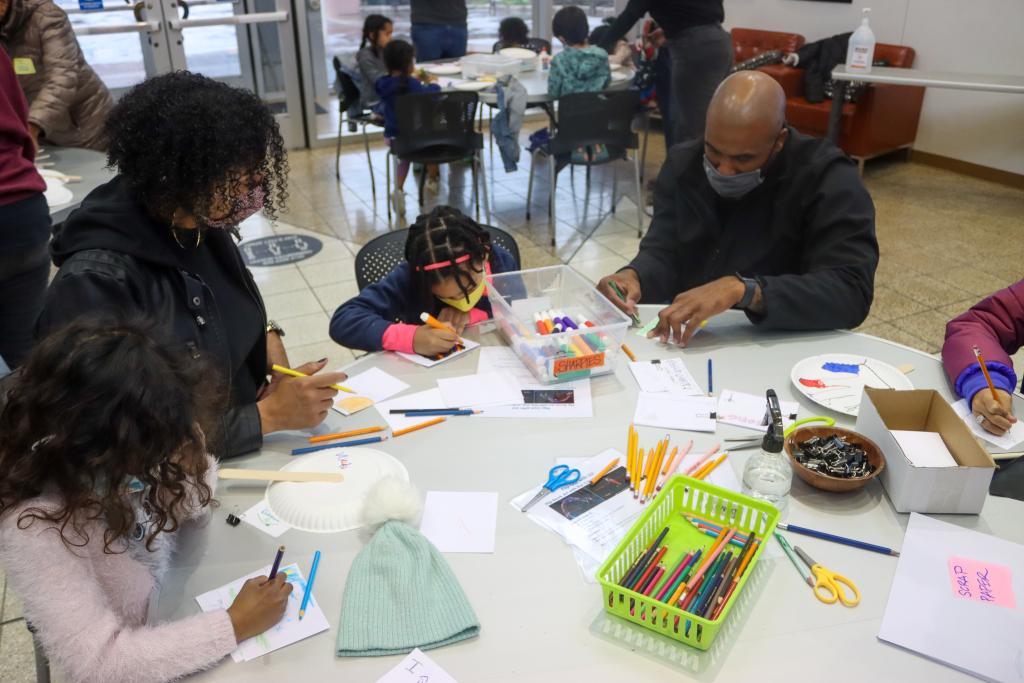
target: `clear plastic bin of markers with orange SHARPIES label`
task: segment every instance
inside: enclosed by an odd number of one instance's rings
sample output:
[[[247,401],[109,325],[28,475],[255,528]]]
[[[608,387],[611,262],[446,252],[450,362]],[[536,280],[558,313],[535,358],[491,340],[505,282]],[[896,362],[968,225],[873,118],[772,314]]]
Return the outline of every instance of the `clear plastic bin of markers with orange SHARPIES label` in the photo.
[[[540,382],[569,382],[614,369],[630,318],[569,266],[492,275],[488,296],[498,328]],[[568,317],[578,329],[548,333],[538,315]]]

